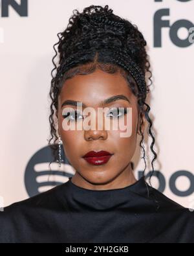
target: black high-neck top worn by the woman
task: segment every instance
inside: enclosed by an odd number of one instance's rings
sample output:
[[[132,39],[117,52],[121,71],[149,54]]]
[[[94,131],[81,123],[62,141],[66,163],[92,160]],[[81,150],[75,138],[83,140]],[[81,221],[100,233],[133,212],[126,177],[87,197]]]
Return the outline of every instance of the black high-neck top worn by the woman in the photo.
[[[149,196],[148,196],[148,191]],[[194,242],[194,211],[150,187],[58,185],[0,212],[0,242]]]

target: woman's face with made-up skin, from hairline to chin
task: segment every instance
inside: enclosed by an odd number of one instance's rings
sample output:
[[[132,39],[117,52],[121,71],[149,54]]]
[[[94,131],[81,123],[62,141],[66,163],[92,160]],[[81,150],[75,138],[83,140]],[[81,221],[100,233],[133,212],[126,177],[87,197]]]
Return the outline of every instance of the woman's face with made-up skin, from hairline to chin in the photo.
[[[116,95],[124,95],[126,99],[118,99],[108,104],[102,105],[101,102]],[[63,115],[68,112],[69,108],[77,110],[76,106],[70,103],[61,107],[66,100],[74,100],[82,102],[85,107],[92,107],[96,113],[96,127],[98,127],[98,108],[108,108],[104,114],[103,129],[98,130],[64,130],[62,122]],[[78,180],[84,180],[92,185],[102,185],[105,183],[120,183],[124,177],[125,180],[132,174],[131,158],[135,153],[136,134],[138,129],[138,107],[135,95],[129,89],[125,78],[120,73],[109,74],[96,69],[90,75],[76,75],[65,81],[58,98],[58,128],[59,135],[63,141],[65,156],[69,159],[70,164],[76,170]],[[131,108],[132,134],[129,137],[121,137],[124,130],[105,130],[105,120],[113,122],[113,119],[118,117],[119,113],[115,108]],[[111,111],[114,109],[114,111]],[[67,110],[67,111],[66,111]],[[79,112],[80,110],[80,112]],[[84,107],[82,108],[84,110]],[[66,113],[65,113],[66,111]],[[78,108],[78,115],[71,115],[70,122],[83,124],[83,115],[81,108]],[[82,112],[83,113],[83,112]],[[91,114],[89,114],[91,115]],[[88,115],[88,116],[89,116]],[[85,115],[84,115],[85,116]],[[113,116],[113,117],[111,117]],[[82,118],[82,119],[81,119]],[[127,124],[127,115],[122,113],[125,124]],[[67,119],[66,119],[67,120]],[[115,119],[114,119],[115,120]],[[83,127],[83,126],[82,126]],[[92,165],[88,163],[83,156],[89,151],[104,150],[113,154],[109,161],[103,165]]]

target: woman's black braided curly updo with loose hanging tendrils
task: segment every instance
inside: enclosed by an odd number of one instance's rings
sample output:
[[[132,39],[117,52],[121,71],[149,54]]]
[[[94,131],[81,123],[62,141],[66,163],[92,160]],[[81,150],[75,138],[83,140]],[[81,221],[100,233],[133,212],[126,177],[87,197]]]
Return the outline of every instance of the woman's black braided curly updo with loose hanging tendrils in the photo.
[[[145,102],[149,86],[152,84],[152,73],[149,70],[150,64],[145,49],[146,41],[136,25],[132,25],[127,19],[122,19],[113,14],[113,10],[108,5],[91,5],[83,9],[73,11],[69,19],[69,25],[63,32],[58,33],[59,41],[53,48],[56,54],[52,58],[54,69],[51,75],[50,87],[50,140],[48,145],[52,149],[54,161],[58,156],[58,130],[56,129],[56,110],[58,110],[58,95],[65,80],[75,75],[88,75],[96,68],[107,73],[120,72],[129,84],[131,91],[138,100],[138,113],[140,115],[140,128],[138,133],[142,136],[140,147],[144,152],[144,163],[146,170],[146,152],[142,142],[144,134],[142,133],[142,117],[145,116],[149,127],[147,133],[152,138],[151,152],[153,159],[151,161],[154,172],[153,161],[157,155],[153,146],[155,137],[151,130],[152,121],[149,117],[149,105]],[[58,45],[58,52],[55,47]],[[54,59],[58,56],[58,64]],[[146,74],[149,73],[149,84],[146,83]],[[52,139],[54,143],[51,143]],[[153,174],[152,172],[152,174]],[[151,175],[152,175],[151,174]],[[151,176],[149,177],[151,178]]]

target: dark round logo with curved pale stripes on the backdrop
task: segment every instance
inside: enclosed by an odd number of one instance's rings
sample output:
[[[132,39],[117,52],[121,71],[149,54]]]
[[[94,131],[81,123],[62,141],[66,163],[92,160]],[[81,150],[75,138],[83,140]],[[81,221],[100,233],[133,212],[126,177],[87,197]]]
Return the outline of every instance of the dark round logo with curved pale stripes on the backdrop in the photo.
[[[54,161],[49,146],[41,148],[30,158],[25,169],[25,188],[28,196],[52,189],[74,175],[75,170],[65,157],[63,148],[61,148],[61,158],[64,160],[61,167],[59,163],[54,162],[50,164],[49,169],[49,163]]]

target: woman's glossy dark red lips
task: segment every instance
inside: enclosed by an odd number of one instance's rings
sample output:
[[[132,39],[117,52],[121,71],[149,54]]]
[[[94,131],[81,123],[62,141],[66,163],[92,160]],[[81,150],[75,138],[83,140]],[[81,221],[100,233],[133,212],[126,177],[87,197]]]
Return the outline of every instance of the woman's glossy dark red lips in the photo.
[[[113,156],[113,154],[107,152],[107,151],[90,151],[83,158],[90,163],[91,165],[104,165],[109,161],[109,159]]]

